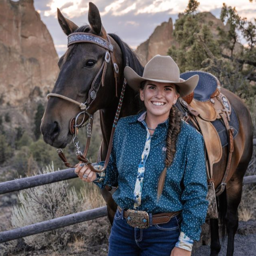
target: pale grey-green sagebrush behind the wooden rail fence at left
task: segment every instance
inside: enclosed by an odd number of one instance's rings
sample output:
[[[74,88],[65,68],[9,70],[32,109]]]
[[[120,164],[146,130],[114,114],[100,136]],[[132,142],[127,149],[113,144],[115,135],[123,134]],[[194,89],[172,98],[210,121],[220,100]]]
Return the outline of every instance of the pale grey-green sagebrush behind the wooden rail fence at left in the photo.
[[[53,171],[54,166],[52,164],[43,169],[42,174]],[[67,181],[56,182],[21,191],[18,194],[18,205],[13,206],[11,224],[12,228],[24,227],[104,205],[106,203],[100,195],[98,187],[94,184],[86,184],[81,193],[78,194],[74,187],[69,188]],[[22,238],[23,248],[19,248],[19,251],[26,247],[30,250],[42,248],[49,248],[54,251],[62,250],[66,248],[67,243],[83,237],[87,228],[88,222],[83,222]],[[0,247],[0,250],[10,253],[15,250],[17,243],[18,241],[5,243]]]

